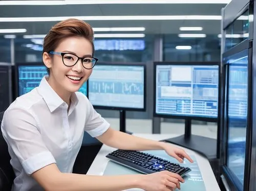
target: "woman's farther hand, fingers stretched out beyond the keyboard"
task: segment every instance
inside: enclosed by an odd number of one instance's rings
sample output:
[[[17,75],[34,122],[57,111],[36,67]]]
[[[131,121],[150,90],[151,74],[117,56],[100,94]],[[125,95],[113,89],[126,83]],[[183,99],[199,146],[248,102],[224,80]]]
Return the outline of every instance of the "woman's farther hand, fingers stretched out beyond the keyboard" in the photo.
[[[184,158],[189,162],[194,162],[183,149],[174,147],[167,143],[164,143],[163,149],[168,155],[176,158],[181,163],[183,163]]]

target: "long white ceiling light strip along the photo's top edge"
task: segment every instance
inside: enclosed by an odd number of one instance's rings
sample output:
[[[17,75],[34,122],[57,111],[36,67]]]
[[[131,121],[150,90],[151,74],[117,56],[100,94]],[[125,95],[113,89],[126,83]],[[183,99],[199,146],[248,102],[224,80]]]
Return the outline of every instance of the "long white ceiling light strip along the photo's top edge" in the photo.
[[[66,1],[0,1],[0,5],[89,5],[89,4],[228,4],[231,0],[66,0]]]

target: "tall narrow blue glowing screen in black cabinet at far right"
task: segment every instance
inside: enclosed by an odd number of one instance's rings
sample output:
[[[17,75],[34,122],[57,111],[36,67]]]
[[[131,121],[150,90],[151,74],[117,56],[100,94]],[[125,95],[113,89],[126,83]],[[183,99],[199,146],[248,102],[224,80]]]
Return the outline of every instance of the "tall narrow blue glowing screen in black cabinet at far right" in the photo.
[[[248,102],[248,50],[226,59],[227,168],[235,184],[243,188]]]

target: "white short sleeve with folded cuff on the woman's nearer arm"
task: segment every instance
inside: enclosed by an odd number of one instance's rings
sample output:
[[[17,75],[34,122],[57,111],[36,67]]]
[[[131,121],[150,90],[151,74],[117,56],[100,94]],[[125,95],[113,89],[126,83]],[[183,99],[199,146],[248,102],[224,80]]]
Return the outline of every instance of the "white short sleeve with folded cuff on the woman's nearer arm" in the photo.
[[[56,163],[41,138],[35,117],[28,110],[7,110],[1,129],[9,149],[17,156],[28,175],[46,165]]]

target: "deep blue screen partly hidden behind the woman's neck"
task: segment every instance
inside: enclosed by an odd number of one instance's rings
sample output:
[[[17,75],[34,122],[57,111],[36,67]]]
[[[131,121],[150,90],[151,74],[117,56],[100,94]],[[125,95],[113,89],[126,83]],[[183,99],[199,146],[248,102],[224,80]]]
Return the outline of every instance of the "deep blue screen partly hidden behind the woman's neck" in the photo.
[[[46,75],[48,74],[45,66],[18,66],[18,96],[22,96],[39,86],[42,77]],[[87,84],[84,83],[79,91],[87,95]]]

